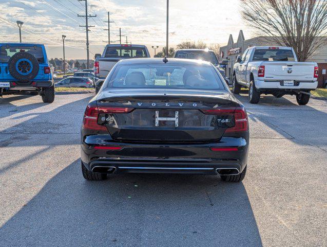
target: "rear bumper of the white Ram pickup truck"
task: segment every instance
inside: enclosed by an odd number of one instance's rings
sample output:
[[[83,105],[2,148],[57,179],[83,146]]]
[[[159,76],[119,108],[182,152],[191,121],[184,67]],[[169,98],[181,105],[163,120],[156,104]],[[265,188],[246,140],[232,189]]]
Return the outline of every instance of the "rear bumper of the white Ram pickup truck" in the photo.
[[[317,81],[296,81],[294,86],[284,86],[282,81],[255,81],[256,89],[287,89],[287,90],[306,90],[306,89],[316,89],[318,86]]]

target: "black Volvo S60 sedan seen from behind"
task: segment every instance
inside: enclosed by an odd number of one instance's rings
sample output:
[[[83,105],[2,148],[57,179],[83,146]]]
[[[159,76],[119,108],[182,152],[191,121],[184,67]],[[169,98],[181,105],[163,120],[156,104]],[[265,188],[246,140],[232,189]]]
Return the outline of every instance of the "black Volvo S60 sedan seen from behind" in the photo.
[[[124,172],[245,177],[246,111],[208,62],[121,60],[87,105],[81,135],[87,180]]]

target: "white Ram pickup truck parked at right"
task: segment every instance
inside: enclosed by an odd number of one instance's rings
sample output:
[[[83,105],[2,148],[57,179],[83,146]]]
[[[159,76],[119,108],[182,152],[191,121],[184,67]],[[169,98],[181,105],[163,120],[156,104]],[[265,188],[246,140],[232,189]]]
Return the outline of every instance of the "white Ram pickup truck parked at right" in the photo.
[[[250,103],[261,94],[279,98],[296,95],[298,104],[307,104],[310,91],[317,88],[318,66],[315,62],[298,62],[291,47],[249,47],[237,57],[233,71],[233,93],[248,87]]]

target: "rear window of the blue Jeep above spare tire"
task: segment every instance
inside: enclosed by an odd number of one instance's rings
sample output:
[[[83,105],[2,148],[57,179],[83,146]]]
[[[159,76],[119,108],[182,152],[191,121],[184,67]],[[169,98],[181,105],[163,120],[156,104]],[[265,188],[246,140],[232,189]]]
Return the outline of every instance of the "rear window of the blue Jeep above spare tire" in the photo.
[[[9,59],[17,52],[26,51],[32,54],[39,63],[44,63],[43,51],[40,46],[1,46],[0,47],[0,62],[8,63]]]

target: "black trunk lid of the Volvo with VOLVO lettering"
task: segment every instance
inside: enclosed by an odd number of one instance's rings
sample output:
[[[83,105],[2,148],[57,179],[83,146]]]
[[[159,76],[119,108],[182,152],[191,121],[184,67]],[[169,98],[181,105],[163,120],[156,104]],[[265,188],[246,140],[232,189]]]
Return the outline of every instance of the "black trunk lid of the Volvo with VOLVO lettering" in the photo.
[[[97,100],[98,124],[115,140],[211,142],[235,125],[238,103],[226,92],[119,90]],[[221,109],[211,115],[206,109]]]

